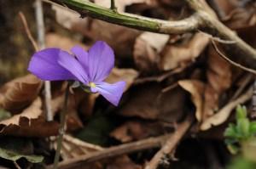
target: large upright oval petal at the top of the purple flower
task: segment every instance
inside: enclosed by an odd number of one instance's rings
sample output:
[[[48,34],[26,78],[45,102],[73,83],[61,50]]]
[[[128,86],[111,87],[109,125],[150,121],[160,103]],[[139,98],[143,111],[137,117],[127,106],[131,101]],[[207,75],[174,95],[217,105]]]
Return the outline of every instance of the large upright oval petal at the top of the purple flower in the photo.
[[[102,82],[113,68],[113,50],[106,42],[98,41],[90,48],[88,61],[90,81]]]

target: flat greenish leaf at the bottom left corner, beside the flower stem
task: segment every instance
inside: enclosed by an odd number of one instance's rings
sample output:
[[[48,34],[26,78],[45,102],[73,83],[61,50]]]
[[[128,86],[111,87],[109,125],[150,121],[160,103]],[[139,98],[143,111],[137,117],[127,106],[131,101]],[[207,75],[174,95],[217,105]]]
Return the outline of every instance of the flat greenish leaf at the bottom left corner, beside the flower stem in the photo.
[[[0,148],[0,157],[9,161],[17,161],[20,158],[24,157],[27,161],[30,161],[32,163],[38,163],[44,160],[44,157],[42,155],[20,155],[15,151],[2,148]]]

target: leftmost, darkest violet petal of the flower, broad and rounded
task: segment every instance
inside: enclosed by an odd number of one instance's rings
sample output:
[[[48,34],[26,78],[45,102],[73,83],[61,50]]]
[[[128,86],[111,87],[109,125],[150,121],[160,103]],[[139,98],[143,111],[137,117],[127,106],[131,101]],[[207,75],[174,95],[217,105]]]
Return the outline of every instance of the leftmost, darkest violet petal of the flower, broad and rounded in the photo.
[[[28,70],[44,81],[75,80],[76,78],[58,64],[59,48],[47,48],[32,55]]]

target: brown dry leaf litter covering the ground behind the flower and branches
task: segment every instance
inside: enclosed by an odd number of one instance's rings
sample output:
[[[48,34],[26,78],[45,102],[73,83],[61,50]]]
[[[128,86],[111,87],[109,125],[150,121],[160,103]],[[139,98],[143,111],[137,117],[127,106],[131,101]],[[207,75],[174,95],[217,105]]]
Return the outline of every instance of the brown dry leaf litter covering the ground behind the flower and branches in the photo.
[[[212,3],[210,6],[218,14],[219,20],[255,47],[255,7],[250,5],[253,3],[236,0],[215,2],[215,6]],[[104,7],[110,5],[110,1],[105,0],[96,0],[95,3]],[[119,12],[131,11],[165,20],[180,20],[190,14],[181,1],[125,0],[116,1],[116,6]],[[30,8],[29,4],[26,8]],[[186,115],[195,115],[195,137],[200,138],[201,131],[206,131],[212,136],[207,141],[218,143],[216,140],[223,136],[224,129],[220,129],[218,133],[215,129],[232,121],[237,104],[249,105],[253,78],[245,82],[243,77],[248,76],[248,73],[222,59],[212,48],[211,37],[204,33],[163,35],[91,18],[81,19],[79,14],[52,4],[44,9],[47,13],[46,22],[49,23],[46,25],[45,37],[48,48],[69,50],[79,44],[88,49],[96,40],[106,41],[113,48],[116,57],[116,67],[107,82],[123,80],[127,83],[118,108],[114,108],[97,94],[84,93],[79,88],[72,89],[67,106],[68,135],[64,138],[61,149],[63,162],[101,152],[108,147],[175,133]],[[29,20],[29,24],[33,25],[34,20]],[[24,76],[1,84],[0,135],[41,140],[53,137],[46,147],[55,149],[58,117],[67,83],[51,82],[51,104],[55,121],[46,121],[43,82],[26,74],[27,72],[22,74]],[[244,86],[241,85],[243,83]],[[240,88],[241,92],[236,94]],[[235,95],[236,98],[233,98]],[[204,143],[208,143],[207,141]],[[11,161],[24,157],[30,162],[41,162],[41,156],[33,156],[38,155],[35,153],[38,149],[36,143],[32,143],[34,151],[29,155],[22,152],[10,155],[9,152],[12,151],[0,147],[0,156]],[[183,152],[189,151],[189,148],[184,150],[183,147],[186,147],[183,142],[177,146],[180,148],[177,149],[179,168],[182,168],[182,161],[187,161]],[[45,149],[46,154],[52,153],[49,149]],[[155,149],[141,150],[78,168],[139,169],[150,161],[155,152]],[[172,160],[166,158],[167,163]],[[208,161],[207,157],[202,161]],[[22,161],[18,160],[18,163],[21,164]],[[176,164],[174,161],[171,163]],[[51,162],[47,164],[50,165]],[[0,166],[2,165],[0,161]],[[207,165],[211,166],[211,163]],[[185,164],[185,168],[188,166],[191,165]]]

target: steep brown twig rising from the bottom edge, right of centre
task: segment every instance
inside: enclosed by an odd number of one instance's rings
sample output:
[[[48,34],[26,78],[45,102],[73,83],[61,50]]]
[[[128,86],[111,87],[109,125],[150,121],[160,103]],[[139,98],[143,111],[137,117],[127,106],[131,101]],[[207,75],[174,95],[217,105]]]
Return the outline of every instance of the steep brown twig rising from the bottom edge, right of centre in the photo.
[[[147,164],[145,169],[156,169],[163,160],[165,155],[170,155],[172,151],[176,148],[177,144],[183,138],[184,134],[189,130],[194,118],[189,115],[188,118],[177,126],[174,134],[167,139],[166,144],[154,155],[151,161]]]

